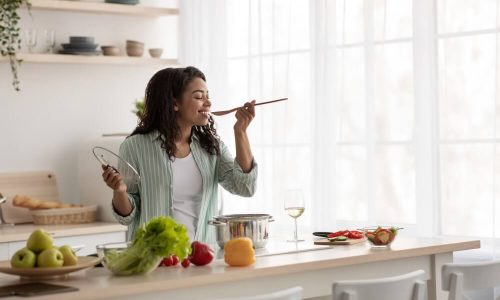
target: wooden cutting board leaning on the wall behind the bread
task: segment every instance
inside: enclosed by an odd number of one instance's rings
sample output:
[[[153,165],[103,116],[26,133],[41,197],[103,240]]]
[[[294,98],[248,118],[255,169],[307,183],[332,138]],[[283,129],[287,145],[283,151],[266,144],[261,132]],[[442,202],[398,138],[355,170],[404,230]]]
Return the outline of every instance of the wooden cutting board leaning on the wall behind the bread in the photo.
[[[29,209],[12,205],[15,195],[59,199],[56,176],[50,171],[0,173],[0,193],[7,197],[7,202],[2,204],[5,221],[16,224],[33,222],[33,218]]]

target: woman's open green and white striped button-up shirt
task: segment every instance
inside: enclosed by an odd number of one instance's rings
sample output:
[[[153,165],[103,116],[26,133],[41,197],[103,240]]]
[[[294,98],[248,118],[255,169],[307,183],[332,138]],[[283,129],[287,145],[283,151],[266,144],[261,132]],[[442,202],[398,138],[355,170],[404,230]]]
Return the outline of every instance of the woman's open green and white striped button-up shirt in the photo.
[[[136,134],[128,137],[120,146],[120,156],[128,161],[141,176],[140,183],[127,187],[132,212],[121,216],[113,209],[119,223],[128,225],[127,240],[133,239],[140,224],[157,216],[173,216],[172,162],[161,148],[158,132]],[[203,182],[200,215],[194,239],[215,244],[214,226],[208,220],[218,215],[218,184],[230,193],[251,197],[257,182],[257,164],[244,173],[220,141],[220,155],[211,155],[203,149],[195,135],[191,137],[191,153]]]

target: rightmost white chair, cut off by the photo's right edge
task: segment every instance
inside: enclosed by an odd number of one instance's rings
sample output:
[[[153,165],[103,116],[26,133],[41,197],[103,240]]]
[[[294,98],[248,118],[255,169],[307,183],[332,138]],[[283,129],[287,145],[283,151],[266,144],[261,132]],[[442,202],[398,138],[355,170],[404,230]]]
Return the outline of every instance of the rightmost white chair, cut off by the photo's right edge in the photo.
[[[442,288],[450,291],[448,300],[469,299],[467,290],[500,286],[500,261],[449,263],[443,265]]]

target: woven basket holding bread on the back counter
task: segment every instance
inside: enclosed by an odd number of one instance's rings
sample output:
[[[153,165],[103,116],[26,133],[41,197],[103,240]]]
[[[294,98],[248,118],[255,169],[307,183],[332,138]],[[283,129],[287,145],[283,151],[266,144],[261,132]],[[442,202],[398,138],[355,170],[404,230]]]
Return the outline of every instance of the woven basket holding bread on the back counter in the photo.
[[[36,225],[92,223],[96,220],[97,205],[38,209],[32,210],[31,215]]]

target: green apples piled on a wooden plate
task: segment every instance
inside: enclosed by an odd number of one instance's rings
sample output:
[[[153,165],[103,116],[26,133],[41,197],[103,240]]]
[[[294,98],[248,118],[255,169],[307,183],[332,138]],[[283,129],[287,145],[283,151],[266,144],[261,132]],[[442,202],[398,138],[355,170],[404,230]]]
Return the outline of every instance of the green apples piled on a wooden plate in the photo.
[[[69,245],[56,246],[43,229],[33,231],[26,246],[8,261],[0,262],[0,272],[22,277],[52,277],[90,268],[99,263],[96,257],[78,257]]]

